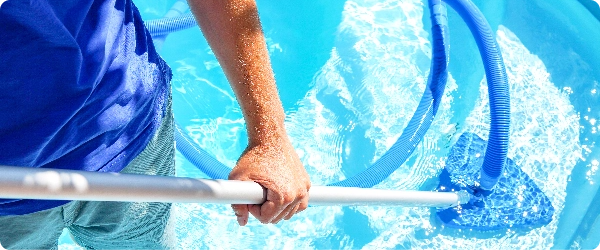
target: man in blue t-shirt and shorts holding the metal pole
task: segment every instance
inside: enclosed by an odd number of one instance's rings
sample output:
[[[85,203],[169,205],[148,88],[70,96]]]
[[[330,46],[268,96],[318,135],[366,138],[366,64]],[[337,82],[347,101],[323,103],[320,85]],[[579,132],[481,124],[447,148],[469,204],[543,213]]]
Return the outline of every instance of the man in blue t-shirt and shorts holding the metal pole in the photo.
[[[267,189],[238,223],[290,219],[310,180],[284,112],[254,0],[189,0],[244,113],[248,147],[230,179]],[[171,71],[131,0],[7,0],[0,6],[0,165],[174,174]],[[0,244],[162,249],[170,204],[0,200]]]

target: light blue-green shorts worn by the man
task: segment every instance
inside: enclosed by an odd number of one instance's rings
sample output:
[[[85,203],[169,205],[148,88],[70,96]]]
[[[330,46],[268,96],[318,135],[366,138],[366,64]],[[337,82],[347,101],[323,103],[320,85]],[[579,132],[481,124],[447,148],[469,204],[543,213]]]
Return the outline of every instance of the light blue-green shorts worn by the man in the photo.
[[[171,104],[146,148],[121,173],[175,175]],[[164,232],[170,203],[72,201],[27,215],[0,216],[5,249],[58,249],[67,228],[87,249],[166,249]]]

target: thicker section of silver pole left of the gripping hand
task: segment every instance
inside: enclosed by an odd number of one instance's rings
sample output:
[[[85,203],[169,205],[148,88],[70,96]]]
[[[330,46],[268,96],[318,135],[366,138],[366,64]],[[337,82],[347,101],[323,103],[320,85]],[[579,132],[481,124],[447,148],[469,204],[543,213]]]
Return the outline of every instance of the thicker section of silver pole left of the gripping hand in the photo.
[[[129,202],[263,203],[254,182],[0,166],[0,197]]]

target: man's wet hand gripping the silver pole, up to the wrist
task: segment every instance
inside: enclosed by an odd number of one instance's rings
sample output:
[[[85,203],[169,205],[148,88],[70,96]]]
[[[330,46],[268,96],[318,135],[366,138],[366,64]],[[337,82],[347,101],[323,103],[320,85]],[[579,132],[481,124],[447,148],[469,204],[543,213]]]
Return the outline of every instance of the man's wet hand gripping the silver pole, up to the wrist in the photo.
[[[262,205],[231,205],[240,226],[248,223],[248,212],[262,223],[276,224],[308,206],[310,179],[287,137],[248,146],[229,179],[251,180],[267,189]]]

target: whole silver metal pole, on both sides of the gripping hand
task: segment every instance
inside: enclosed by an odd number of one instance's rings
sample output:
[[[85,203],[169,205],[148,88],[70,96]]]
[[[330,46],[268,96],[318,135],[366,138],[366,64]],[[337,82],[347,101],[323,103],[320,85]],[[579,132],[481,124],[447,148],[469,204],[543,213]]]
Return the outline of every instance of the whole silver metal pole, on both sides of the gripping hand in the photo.
[[[465,193],[314,186],[309,204],[450,207],[468,202]],[[4,199],[261,204],[265,197],[251,181],[0,166]]]

